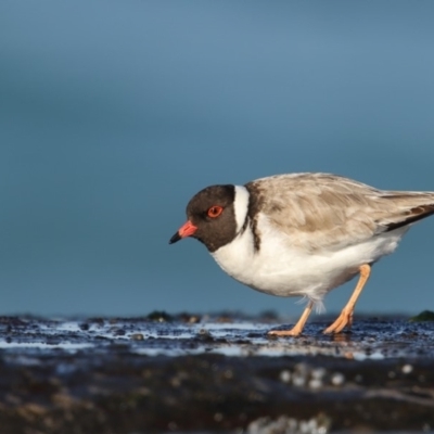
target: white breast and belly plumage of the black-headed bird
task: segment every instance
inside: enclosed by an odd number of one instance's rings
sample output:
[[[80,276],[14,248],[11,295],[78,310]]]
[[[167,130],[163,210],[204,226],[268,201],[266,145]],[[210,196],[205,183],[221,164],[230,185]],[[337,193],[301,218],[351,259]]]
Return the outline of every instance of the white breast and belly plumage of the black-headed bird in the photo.
[[[277,232],[267,232],[267,240],[263,237],[260,250],[255,253],[252,233],[246,230],[212,255],[229,276],[257,291],[277,296],[302,295],[320,302],[333,288],[355,277],[360,265],[372,264],[392,253],[406,230],[315,253],[291,247],[289,240]]]

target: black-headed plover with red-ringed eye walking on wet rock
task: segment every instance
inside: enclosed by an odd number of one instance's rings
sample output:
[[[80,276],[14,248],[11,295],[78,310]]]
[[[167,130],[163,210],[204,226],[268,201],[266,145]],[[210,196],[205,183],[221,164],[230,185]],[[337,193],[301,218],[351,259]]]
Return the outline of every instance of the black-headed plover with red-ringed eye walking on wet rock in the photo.
[[[314,307],[358,276],[336,320],[323,332],[353,324],[372,265],[393,253],[417,221],[434,214],[434,192],[388,191],[332,174],[275,175],[209,186],[187,205],[187,222],[169,243],[191,237],[239,282],[276,296],[302,296],[306,307],[290,330],[298,336]]]

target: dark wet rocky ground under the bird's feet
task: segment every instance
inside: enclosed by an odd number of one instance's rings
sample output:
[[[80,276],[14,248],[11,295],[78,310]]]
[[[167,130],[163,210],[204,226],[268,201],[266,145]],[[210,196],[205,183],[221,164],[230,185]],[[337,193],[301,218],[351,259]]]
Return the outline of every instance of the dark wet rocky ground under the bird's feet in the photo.
[[[1,434],[434,430],[434,322],[0,318]]]

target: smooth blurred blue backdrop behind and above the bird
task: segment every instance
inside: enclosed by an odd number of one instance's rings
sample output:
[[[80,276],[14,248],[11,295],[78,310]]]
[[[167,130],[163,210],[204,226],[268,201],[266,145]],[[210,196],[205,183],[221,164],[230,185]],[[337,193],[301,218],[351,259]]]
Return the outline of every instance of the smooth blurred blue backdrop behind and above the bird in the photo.
[[[433,16],[432,1],[2,1],[0,314],[298,315],[168,240],[213,183],[329,171],[434,190]],[[433,241],[434,218],[417,225],[358,311],[434,308]]]

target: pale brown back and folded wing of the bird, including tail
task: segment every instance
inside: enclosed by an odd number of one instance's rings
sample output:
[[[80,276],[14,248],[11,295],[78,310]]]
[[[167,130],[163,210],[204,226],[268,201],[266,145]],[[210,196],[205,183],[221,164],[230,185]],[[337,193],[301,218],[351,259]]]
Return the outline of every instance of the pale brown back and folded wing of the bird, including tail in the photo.
[[[359,243],[434,214],[434,193],[382,191],[328,174],[281,175],[246,188],[258,197],[252,212],[263,210],[292,245],[311,251]]]

